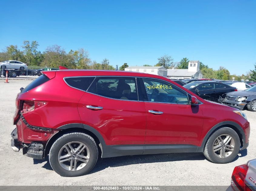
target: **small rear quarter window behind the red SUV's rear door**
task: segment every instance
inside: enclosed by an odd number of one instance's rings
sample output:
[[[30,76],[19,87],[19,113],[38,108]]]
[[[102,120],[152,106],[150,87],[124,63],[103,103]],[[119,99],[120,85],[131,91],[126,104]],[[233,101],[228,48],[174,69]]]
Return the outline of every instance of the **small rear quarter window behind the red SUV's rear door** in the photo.
[[[86,91],[94,79],[95,77],[68,77],[64,81],[72,88]]]

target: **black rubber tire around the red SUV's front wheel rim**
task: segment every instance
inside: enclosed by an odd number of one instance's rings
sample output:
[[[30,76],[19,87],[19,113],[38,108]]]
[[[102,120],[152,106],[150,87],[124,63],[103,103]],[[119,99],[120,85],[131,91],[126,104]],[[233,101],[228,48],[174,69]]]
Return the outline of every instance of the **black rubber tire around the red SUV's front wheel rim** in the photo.
[[[232,151],[231,154],[228,155],[228,157],[226,158],[218,158],[213,151],[213,146],[214,146],[214,142],[215,140],[223,134],[228,134],[230,135],[233,140],[234,140],[234,150]],[[214,162],[214,163],[218,163],[218,164],[225,164],[225,163],[230,163],[231,161],[234,160],[234,158],[237,156],[239,149],[240,149],[240,139],[238,134],[231,128],[229,127],[223,127],[220,129],[217,129],[216,131],[214,131],[210,137],[208,138],[205,146],[204,146],[204,156],[206,158],[208,158],[208,160]],[[222,147],[221,147],[222,148]],[[218,152],[218,151],[217,151]]]

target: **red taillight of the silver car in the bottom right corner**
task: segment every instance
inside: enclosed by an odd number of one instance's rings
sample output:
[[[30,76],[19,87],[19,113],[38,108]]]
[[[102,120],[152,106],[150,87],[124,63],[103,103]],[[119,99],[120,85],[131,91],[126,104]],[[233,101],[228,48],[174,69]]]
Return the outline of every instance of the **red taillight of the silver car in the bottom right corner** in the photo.
[[[232,176],[231,176],[231,186],[234,190],[240,191],[249,191],[251,190],[244,182],[248,171],[248,166],[246,164],[242,164],[234,168]]]

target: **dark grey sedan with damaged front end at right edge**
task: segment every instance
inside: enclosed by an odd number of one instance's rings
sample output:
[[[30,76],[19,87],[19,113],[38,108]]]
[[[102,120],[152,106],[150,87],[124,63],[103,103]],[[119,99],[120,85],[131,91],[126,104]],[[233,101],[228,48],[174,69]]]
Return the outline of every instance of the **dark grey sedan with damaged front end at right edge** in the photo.
[[[221,103],[244,110],[256,111],[256,86],[244,91],[231,92],[226,95]]]

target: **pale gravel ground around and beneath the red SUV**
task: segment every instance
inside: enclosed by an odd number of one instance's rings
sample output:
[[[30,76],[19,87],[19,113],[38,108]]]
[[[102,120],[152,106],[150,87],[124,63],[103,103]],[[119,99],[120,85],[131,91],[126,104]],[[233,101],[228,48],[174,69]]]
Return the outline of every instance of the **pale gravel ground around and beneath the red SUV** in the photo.
[[[10,133],[15,128],[12,117],[15,97],[30,80],[0,80],[0,185],[223,185],[230,184],[235,166],[256,158],[256,112],[244,111],[251,123],[250,144],[229,164],[214,164],[202,153],[154,154],[99,159],[90,174],[82,177],[60,177],[48,159],[28,158],[11,149]]]

